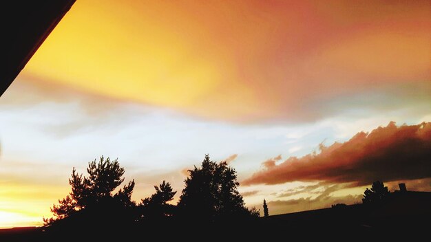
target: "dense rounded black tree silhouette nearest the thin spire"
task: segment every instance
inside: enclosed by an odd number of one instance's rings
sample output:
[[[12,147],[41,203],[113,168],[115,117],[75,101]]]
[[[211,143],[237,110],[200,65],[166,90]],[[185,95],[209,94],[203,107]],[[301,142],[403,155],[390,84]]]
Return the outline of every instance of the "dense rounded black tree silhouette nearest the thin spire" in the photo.
[[[238,192],[235,169],[227,162],[216,163],[205,155],[200,168],[189,170],[178,208],[183,216],[195,221],[220,221],[232,217],[258,216],[244,207]]]

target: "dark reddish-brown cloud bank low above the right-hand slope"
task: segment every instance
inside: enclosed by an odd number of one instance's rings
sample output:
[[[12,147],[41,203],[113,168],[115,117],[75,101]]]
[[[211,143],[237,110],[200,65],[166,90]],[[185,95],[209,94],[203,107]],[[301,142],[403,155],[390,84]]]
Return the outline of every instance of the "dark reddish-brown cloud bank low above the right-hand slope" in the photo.
[[[319,148],[320,153],[289,157],[278,165],[266,161],[242,185],[324,181],[361,186],[376,180],[431,177],[431,122],[410,126],[390,122],[370,133],[359,132],[347,142]]]

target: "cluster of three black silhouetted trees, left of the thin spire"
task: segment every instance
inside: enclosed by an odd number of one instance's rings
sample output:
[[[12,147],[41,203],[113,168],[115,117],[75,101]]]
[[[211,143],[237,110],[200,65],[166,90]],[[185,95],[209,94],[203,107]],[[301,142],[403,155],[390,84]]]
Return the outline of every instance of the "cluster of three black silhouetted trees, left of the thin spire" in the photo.
[[[72,190],[52,206],[54,216],[43,219],[45,232],[85,234],[97,230],[159,230],[160,227],[211,228],[253,223],[259,217],[258,210],[244,206],[235,169],[227,162],[211,161],[209,155],[205,155],[200,166],[189,170],[176,205],[169,203],[176,191],[167,181],[154,186],[151,197],[139,203],[132,201],[135,182],[129,181],[121,187],[124,173],[118,159],[109,157],[90,162],[87,175],[78,174],[73,168],[69,179]]]

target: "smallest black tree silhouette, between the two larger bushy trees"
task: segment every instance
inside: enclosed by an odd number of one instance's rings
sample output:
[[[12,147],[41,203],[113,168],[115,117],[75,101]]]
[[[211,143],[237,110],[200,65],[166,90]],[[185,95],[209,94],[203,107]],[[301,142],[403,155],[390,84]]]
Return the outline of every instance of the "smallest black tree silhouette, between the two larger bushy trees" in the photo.
[[[143,219],[163,219],[174,214],[175,206],[169,204],[174,199],[176,192],[171,188],[171,184],[162,181],[159,186],[154,186],[156,193],[142,199],[140,203],[141,217]]]

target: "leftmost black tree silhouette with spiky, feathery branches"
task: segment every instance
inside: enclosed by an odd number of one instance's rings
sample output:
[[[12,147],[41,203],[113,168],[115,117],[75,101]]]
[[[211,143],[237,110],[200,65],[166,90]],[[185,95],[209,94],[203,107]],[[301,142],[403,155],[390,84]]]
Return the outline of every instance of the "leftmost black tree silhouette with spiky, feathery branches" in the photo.
[[[132,201],[132,192],[135,186],[134,181],[130,181],[127,185],[120,188],[118,192],[114,190],[123,183],[124,168],[120,167],[118,159],[112,161],[107,157],[100,157],[99,161],[89,162],[87,167],[88,177],[76,173],[76,169],[72,170],[72,177],[69,179],[69,184],[72,186],[72,192],[64,199],[59,200],[59,205],[52,206],[51,212],[53,218],[43,219],[45,225],[50,225],[54,221],[65,219],[76,214],[79,211],[98,211],[99,214],[109,214],[117,211],[118,214],[125,212],[118,211],[121,208],[133,208],[135,206]]]

